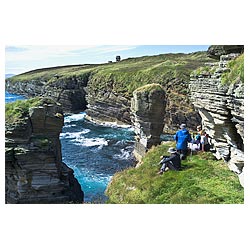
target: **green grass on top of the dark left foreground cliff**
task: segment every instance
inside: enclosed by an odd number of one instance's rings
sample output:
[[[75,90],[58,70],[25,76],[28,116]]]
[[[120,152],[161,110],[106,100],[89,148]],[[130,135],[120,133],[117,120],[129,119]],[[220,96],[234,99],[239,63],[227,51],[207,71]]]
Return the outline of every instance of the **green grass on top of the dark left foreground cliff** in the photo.
[[[50,98],[35,97],[28,100],[18,100],[5,104],[5,122],[7,124],[15,123],[22,120],[29,113],[32,107],[41,106],[43,104],[54,103]]]

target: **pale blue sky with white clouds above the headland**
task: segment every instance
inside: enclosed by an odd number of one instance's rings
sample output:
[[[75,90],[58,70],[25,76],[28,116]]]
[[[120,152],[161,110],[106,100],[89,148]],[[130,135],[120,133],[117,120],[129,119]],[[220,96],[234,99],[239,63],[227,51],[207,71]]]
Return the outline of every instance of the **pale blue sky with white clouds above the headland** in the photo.
[[[106,63],[122,59],[164,53],[190,53],[207,50],[208,45],[92,45],[92,46],[6,46],[5,73],[61,65]]]

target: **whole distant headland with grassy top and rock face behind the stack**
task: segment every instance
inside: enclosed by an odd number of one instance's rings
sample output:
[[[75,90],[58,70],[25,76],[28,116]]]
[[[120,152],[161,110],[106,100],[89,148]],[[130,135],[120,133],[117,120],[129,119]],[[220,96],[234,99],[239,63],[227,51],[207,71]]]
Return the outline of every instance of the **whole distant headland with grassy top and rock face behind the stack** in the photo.
[[[192,128],[200,122],[188,98],[189,75],[205,62],[214,61],[206,52],[196,52],[39,69],[7,79],[6,90],[27,97],[51,97],[61,103],[64,112],[86,110],[97,122],[131,124],[133,91],[158,83],[166,92],[165,131],[171,132],[183,122]]]

